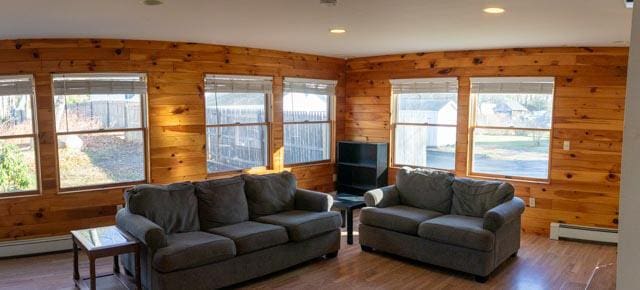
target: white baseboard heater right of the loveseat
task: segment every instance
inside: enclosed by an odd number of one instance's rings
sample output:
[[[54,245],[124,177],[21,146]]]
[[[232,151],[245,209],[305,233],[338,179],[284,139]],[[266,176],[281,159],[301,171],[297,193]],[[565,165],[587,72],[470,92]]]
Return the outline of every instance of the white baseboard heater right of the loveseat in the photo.
[[[618,230],[588,227],[564,223],[551,223],[549,238],[552,240],[575,239],[602,243],[618,243]]]

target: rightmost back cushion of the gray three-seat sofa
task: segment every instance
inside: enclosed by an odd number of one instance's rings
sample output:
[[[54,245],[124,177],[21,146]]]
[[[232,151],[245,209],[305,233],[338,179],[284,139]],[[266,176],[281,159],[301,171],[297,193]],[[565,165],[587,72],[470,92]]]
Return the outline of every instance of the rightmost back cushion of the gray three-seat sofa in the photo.
[[[290,172],[245,174],[242,177],[251,219],[294,208],[297,183],[296,177]]]

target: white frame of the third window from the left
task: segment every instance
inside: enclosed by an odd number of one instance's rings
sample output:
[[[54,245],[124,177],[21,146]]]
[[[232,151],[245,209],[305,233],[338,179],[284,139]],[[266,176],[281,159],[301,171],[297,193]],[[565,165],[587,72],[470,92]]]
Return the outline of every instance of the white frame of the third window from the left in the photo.
[[[265,120],[264,122],[252,122],[252,123],[233,123],[233,124],[208,124],[207,123],[207,93],[215,93],[216,92],[216,80],[238,80],[238,81],[255,81],[255,82],[263,82],[265,85],[268,83],[268,86],[264,89],[264,110],[265,110]],[[204,93],[204,103],[205,103],[205,139],[206,139],[206,162],[205,169],[208,175],[217,175],[224,174],[228,172],[238,172],[243,171],[245,169],[251,168],[268,168],[271,166],[271,158],[269,158],[269,152],[271,152],[271,102],[273,98],[273,77],[271,76],[255,76],[255,75],[226,75],[226,74],[205,74],[205,93]],[[209,148],[211,144],[209,144],[209,128],[224,128],[224,127],[242,127],[242,126],[264,126],[265,129],[265,143],[264,143],[264,165],[258,167],[251,168],[241,168],[241,169],[232,169],[232,170],[219,170],[219,171],[209,171]],[[234,140],[238,141],[237,134],[234,136]]]

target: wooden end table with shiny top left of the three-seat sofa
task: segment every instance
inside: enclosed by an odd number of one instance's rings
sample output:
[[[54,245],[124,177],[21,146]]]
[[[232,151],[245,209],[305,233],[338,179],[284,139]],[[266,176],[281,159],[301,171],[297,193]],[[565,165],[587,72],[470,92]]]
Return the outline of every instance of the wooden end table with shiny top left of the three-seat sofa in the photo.
[[[73,280],[80,289],[96,289],[96,279],[108,279],[110,283],[120,283],[132,289],[133,283],[120,273],[118,255],[133,253],[135,256],[135,288],[142,289],[140,283],[140,244],[131,235],[116,226],[71,231],[73,240]],[[78,272],[78,248],[89,257],[89,277],[81,278]],[[113,274],[96,275],[96,259],[113,256]],[[115,278],[115,279],[114,279]],[[87,285],[88,280],[88,285]],[[114,281],[115,280],[115,281]]]

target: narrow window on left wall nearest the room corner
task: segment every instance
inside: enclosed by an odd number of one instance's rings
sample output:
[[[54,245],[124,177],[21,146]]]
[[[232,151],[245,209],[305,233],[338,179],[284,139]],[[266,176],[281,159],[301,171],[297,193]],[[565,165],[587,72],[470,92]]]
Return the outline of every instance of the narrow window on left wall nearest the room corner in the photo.
[[[331,159],[331,104],[337,81],[285,78],[284,163]]]

